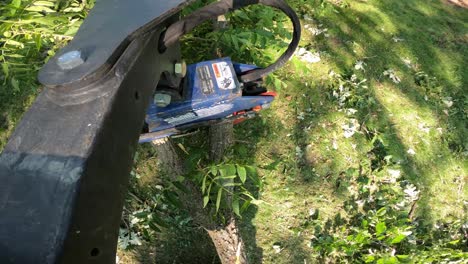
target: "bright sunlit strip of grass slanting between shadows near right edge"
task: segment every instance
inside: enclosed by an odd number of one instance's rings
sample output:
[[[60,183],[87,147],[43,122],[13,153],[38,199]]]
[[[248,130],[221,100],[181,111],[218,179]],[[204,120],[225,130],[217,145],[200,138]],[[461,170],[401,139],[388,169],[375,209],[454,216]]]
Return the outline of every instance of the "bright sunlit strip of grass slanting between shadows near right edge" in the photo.
[[[407,175],[420,185],[422,200],[429,205],[429,219],[463,216],[463,199],[466,191],[457,192],[460,180],[466,178],[466,166],[457,159],[441,141],[444,128],[436,115],[427,107],[409,100],[391,84],[377,86],[376,96],[386,108],[389,120],[394,124],[397,137],[405,146],[404,166],[414,166]],[[405,164],[406,163],[406,164]],[[465,168],[464,168],[465,167]],[[412,175],[411,175],[412,174]],[[461,179],[460,179],[461,177]],[[460,196],[465,196],[460,199]],[[428,212],[424,212],[428,213]]]

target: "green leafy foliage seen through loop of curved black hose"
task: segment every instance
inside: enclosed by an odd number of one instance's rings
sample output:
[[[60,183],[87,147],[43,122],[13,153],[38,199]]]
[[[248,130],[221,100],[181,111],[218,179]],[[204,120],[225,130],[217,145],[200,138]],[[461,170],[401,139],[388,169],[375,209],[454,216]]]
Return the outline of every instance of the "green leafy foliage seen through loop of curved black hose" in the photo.
[[[205,2],[195,2],[186,12]],[[230,56],[234,61],[267,66],[280,56],[292,37],[289,19],[273,8],[255,5],[227,14],[226,19],[224,27],[213,30],[213,22],[207,22],[184,37],[183,49],[191,54],[190,61]],[[268,76],[266,83],[277,90],[286,87],[275,74]]]

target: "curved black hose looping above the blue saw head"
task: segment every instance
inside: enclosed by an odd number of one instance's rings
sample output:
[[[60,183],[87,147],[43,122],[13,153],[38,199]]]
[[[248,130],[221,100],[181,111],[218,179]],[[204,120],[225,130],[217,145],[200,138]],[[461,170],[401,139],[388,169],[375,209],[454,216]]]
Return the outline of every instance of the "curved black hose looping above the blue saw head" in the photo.
[[[230,11],[237,10],[249,5],[263,4],[283,11],[293,24],[293,37],[286,51],[270,66],[248,71],[239,77],[241,82],[252,82],[267,74],[281,68],[294,54],[301,38],[301,23],[294,10],[284,0],[222,0],[202,7],[182,20],[170,25],[163,33],[159,42],[159,50],[164,51],[167,47],[176,43],[183,35],[192,31],[196,26],[209,19],[216,19]]]

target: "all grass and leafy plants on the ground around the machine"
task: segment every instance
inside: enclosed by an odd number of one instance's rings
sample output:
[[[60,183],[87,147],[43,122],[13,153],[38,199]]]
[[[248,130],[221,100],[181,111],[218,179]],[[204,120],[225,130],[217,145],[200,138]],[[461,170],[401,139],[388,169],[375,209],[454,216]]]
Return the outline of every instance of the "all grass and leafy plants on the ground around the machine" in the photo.
[[[251,263],[466,263],[468,10],[439,0],[288,2],[301,16],[300,48],[266,80],[279,93],[272,108],[236,127],[222,162],[208,160],[205,131],[176,140],[190,168],[176,180],[151,146],[138,150],[120,263],[216,263],[180,210],[184,181],[199,183],[208,207],[239,215]],[[0,148],[41,89],[37,70],[91,7],[0,3]],[[184,38],[188,62],[267,65],[290,37],[272,9],[227,20]],[[224,182],[236,184],[234,200],[222,199],[223,174],[235,176]]]

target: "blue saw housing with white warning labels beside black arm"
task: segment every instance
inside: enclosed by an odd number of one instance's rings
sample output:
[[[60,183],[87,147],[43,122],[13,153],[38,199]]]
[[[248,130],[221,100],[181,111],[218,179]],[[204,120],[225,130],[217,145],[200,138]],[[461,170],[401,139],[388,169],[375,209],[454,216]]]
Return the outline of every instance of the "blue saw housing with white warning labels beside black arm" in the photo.
[[[230,58],[204,61],[187,66],[182,100],[158,107],[151,102],[146,115],[148,134],[140,143],[183,133],[209,120],[222,121],[236,113],[268,108],[271,94],[243,96],[237,76],[256,69],[254,65],[233,63]],[[179,128],[182,128],[180,129]]]

